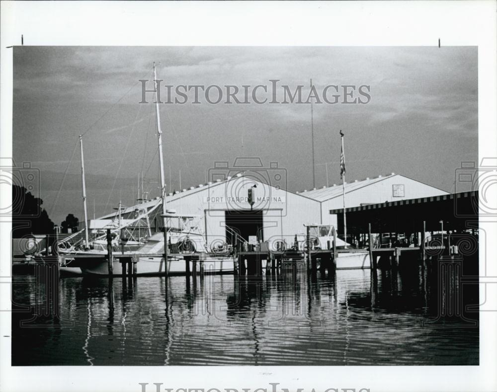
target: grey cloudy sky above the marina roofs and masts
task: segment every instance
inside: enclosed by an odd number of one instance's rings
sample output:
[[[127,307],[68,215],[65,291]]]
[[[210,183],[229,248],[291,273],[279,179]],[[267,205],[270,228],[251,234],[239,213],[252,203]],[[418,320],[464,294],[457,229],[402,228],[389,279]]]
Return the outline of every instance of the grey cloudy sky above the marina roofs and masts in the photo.
[[[312,78],[319,93],[368,85],[371,96],[367,104],[313,103],[315,184],[310,104],[210,104],[202,92],[193,104],[192,91],[185,104],[160,104],[168,192],[205,183],[216,161],[237,157],[277,162],[290,191],[341,183],[339,130],[347,181],[395,172],[452,192],[461,161],[478,159],[477,59],[477,47],[443,46],[16,46],[13,159],[39,170],[34,193],[56,224],[83,217],[79,135],[89,218],[120,199],[134,204],[140,172],[149,197],[158,196],[155,105],[139,104],[139,79],[152,79],[155,61],[158,78],[173,86],[242,90],[278,79],[292,91],[304,85],[305,101]]]

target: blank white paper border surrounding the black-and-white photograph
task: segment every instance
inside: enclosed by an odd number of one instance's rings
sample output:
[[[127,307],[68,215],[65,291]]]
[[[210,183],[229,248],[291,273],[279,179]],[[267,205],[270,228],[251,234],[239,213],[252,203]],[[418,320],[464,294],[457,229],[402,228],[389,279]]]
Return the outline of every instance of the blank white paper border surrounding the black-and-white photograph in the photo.
[[[477,45],[479,154],[497,157],[496,2],[1,2],[0,157],[11,156],[12,49],[26,45]],[[9,192],[7,192],[9,193]],[[9,194],[1,194],[9,198]],[[5,199],[4,199],[5,200]],[[496,198],[497,200],[497,198]],[[497,238],[496,225],[488,238]],[[10,231],[0,227],[2,266]],[[497,260],[495,247],[481,256]],[[486,254],[484,254],[486,251]],[[483,258],[482,258],[483,259]],[[6,271],[8,271],[7,269]],[[488,275],[497,276],[494,270]],[[5,276],[5,268],[1,269]],[[5,282],[6,278],[1,282]],[[494,278],[495,280],[496,278]],[[8,280],[7,280],[8,282]],[[495,284],[494,284],[495,286]],[[485,286],[481,285],[481,298]],[[0,284],[1,309],[10,285]],[[496,307],[494,306],[494,309]],[[475,367],[14,367],[10,316],[1,312],[1,391],[140,391],[163,388],[369,388],[371,391],[495,391],[496,312],[481,314],[480,366]],[[395,336],[392,336],[395,339]],[[149,389],[147,391],[155,391]]]

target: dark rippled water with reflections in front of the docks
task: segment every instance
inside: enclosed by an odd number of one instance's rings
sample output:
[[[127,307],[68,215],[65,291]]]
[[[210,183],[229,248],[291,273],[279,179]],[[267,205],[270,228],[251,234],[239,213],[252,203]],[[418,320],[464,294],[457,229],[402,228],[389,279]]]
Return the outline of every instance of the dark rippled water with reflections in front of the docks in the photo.
[[[377,279],[369,270],[205,276],[189,287],[185,277],[66,277],[48,293],[59,300],[54,317],[43,314],[47,287],[18,276],[12,364],[477,365],[478,327],[437,318],[460,287],[439,295],[436,281],[420,267]],[[463,294],[478,303],[476,290]]]

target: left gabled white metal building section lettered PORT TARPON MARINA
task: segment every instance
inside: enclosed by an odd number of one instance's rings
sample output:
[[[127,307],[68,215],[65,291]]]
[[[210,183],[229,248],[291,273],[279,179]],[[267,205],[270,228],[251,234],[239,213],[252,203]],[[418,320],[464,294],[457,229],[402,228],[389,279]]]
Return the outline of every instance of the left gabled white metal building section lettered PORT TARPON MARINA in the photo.
[[[253,192],[252,208],[248,203],[249,188]],[[160,202],[154,199],[129,207],[122,212],[122,217],[132,217],[137,209],[150,211]],[[319,201],[241,174],[169,194],[166,203],[167,210],[175,210],[178,215],[195,216],[197,227],[208,244],[232,243],[233,233],[246,240],[250,236],[270,242],[284,238],[290,244],[296,234],[305,233],[305,224],[320,224],[322,216]],[[157,213],[151,214],[150,225],[157,230],[162,226],[161,207],[156,210]]]

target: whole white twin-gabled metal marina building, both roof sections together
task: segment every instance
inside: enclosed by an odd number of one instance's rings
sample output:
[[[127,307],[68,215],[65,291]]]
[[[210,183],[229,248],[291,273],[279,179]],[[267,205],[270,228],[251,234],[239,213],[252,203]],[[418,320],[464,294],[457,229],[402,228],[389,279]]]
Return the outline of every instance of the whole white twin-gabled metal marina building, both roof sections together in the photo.
[[[245,240],[250,237],[270,242],[285,239],[290,244],[296,234],[305,233],[306,224],[337,226],[336,215],[330,215],[330,210],[343,207],[341,184],[293,193],[277,185],[268,185],[263,178],[254,179],[248,173],[224,178],[169,193],[166,197],[168,210],[175,210],[177,215],[195,216],[195,226],[205,235],[208,244],[233,243],[234,233]],[[252,208],[248,203],[250,188],[254,201]],[[345,184],[347,207],[445,194],[447,192],[441,189],[394,173]],[[133,218],[139,210],[154,208],[150,226],[157,231],[162,227],[159,198],[126,208],[122,218]]]

